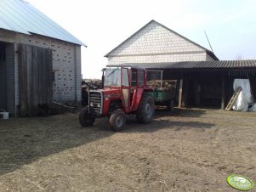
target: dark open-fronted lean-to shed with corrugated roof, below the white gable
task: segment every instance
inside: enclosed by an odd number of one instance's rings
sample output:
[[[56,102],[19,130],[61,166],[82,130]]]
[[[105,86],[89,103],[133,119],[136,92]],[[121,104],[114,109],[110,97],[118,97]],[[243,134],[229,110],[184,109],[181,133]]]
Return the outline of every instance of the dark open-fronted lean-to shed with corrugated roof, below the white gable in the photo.
[[[139,64],[148,70],[163,71],[162,78],[179,80],[176,103],[180,107],[225,109],[233,95],[234,79],[249,79],[256,99],[256,60],[186,61]]]

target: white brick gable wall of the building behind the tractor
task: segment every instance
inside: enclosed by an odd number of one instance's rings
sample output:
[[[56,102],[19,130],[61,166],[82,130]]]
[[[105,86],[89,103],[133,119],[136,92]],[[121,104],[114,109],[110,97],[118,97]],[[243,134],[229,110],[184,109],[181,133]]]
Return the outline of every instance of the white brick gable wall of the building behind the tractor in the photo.
[[[206,60],[207,54],[203,48],[162,25],[151,22],[114,49],[107,57],[109,64],[114,65],[130,62]]]

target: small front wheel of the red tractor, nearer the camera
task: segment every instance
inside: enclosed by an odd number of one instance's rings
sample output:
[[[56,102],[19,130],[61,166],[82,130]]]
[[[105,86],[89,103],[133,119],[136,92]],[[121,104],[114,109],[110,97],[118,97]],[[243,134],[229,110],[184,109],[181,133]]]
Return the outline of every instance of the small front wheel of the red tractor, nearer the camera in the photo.
[[[115,132],[119,132],[123,129],[126,122],[126,116],[122,110],[114,110],[110,117],[111,128]]]

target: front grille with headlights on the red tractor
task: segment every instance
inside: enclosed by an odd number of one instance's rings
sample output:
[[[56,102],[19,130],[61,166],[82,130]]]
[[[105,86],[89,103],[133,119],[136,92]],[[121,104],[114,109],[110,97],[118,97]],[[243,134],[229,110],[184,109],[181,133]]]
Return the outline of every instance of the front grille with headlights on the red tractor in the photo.
[[[100,115],[102,113],[102,96],[101,92],[89,92],[89,113],[94,115]]]

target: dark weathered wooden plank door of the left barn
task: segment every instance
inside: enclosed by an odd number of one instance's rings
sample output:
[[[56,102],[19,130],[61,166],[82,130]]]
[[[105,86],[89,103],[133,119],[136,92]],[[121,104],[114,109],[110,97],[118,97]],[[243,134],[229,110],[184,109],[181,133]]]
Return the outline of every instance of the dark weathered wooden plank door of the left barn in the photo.
[[[53,101],[52,50],[20,44],[20,116],[37,116]]]

